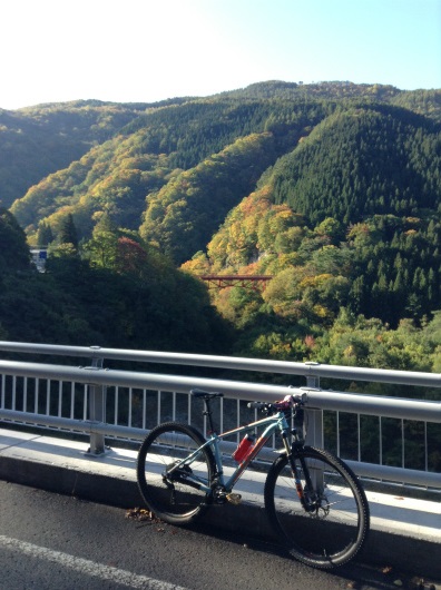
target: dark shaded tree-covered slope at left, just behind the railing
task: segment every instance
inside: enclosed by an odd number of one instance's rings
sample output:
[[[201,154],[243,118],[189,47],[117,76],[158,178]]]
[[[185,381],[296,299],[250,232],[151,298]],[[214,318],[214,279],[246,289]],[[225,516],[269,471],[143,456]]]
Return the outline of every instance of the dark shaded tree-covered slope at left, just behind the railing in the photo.
[[[228,326],[199,281],[131,236],[104,224],[97,234],[85,256],[71,242],[57,247],[41,274],[23,230],[0,209],[0,340],[199,353],[228,346]]]

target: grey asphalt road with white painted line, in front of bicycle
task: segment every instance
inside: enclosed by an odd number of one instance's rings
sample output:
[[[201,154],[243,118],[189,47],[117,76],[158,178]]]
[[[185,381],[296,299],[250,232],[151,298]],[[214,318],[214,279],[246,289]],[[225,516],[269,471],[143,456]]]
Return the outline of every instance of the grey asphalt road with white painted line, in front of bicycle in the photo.
[[[0,481],[0,504],[1,590],[412,587],[386,564],[322,572],[248,538],[246,531],[232,537],[200,527],[171,527],[141,520],[139,511],[4,481]]]

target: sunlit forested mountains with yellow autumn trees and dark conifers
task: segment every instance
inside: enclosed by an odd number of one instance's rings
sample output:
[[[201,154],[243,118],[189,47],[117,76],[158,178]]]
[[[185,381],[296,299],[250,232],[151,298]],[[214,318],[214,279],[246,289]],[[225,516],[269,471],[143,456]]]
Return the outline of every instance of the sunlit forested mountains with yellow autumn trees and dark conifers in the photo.
[[[55,281],[61,259],[81,281],[124,277],[116,306],[124,291],[159,302],[178,288],[187,309],[194,289],[207,296],[197,275],[266,274],[263,292],[212,292],[223,321],[208,299],[195,306],[208,305],[225,353],[440,368],[441,90],[270,81],[156,105],[0,111],[0,198],[30,244],[50,245],[32,281]],[[78,289],[70,308],[90,312]],[[159,303],[146,343],[130,341],[143,309],[121,304],[124,342],[166,346]],[[90,334],[118,340],[96,322]]]

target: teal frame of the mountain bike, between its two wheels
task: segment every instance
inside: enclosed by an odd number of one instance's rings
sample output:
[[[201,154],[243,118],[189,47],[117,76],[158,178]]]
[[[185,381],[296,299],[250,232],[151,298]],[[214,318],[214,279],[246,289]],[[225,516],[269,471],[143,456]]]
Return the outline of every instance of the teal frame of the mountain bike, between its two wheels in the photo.
[[[257,439],[255,445],[251,450],[247,456],[245,456],[244,461],[237,465],[237,468],[234,470],[232,475],[225,480],[224,474],[224,464],[222,460],[222,453],[219,449],[219,441],[222,439],[225,439],[226,436],[231,436],[232,434],[246,434],[247,432],[255,431],[256,429],[264,429],[261,436]],[[196,451],[190,453],[188,456],[183,459],[179,462],[176,462],[173,466],[173,469],[169,471],[169,473],[173,473],[175,470],[178,470],[183,468],[184,465],[190,465],[200,451],[207,446],[210,446],[213,450],[213,454],[215,458],[215,464],[216,464],[216,478],[217,478],[217,485],[225,489],[226,492],[231,492],[241,478],[241,475],[244,473],[244,471],[248,468],[249,463],[257,456],[261,449],[264,446],[264,444],[270,440],[270,437],[274,434],[274,432],[280,431],[282,433],[282,440],[285,444],[285,450],[287,453],[291,453],[291,448],[287,442],[287,437],[283,436],[283,433],[288,431],[290,426],[286,421],[285,414],[283,412],[278,412],[277,414],[274,414],[272,416],[264,417],[262,420],[257,420],[256,422],[251,422],[249,424],[246,424],[245,426],[238,426],[237,429],[233,429],[227,432],[223,432],[222,434],[213,433],[208,436],[207,441],[200,445]],[[196,476],[187,476],[188,480],[192,480],[194,483],[197,484],[197,488],[203,490],[206,493],[210,493],[213,490],[209,486],[208,481],[203,481],[200,478]]]

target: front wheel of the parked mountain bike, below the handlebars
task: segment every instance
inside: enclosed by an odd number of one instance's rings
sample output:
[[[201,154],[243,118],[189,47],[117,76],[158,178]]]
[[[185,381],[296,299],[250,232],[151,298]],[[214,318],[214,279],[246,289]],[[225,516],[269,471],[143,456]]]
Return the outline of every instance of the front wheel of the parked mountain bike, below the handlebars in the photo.
[[[325,451],[305,446],[296,453],[295,462],[311,511],[306,512],[300,501],[287,456],[280,456],[265,482],[265,508],[277,537],[307,566],[343,566],[360,551],[369,530],[364,491],[351,469]]]

